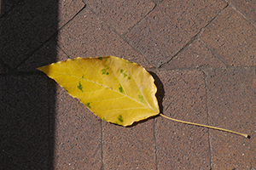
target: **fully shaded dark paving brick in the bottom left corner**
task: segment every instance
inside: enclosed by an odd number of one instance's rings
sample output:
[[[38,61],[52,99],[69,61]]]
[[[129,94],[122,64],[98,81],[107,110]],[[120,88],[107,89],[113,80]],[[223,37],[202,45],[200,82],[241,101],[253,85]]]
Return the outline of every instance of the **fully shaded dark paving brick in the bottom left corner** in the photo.
[[[45,77],[0,77],[0,169],[49,169],[49,93]]]

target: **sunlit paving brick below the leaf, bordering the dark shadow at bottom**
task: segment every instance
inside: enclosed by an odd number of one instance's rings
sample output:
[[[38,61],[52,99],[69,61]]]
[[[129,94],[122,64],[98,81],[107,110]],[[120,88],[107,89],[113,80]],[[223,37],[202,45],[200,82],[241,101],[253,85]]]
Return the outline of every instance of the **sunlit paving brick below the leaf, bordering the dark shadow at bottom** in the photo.
[[[101,133],[101,119],[58,86],[55,98],[55,169],[101,169]]]

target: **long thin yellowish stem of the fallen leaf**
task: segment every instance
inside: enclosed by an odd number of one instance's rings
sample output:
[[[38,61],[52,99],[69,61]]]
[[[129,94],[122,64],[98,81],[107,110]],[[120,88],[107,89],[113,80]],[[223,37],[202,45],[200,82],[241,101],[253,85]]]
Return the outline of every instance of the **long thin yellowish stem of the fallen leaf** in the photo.
[[[195,126],[199,126],[199,127],[212,128],[212,129],[221,130],[221,131],[228,132],[228,133],[235,133],[235,134],[241,135],[241,136],[243,136],[243,137],[245,137],[245,138],[250,138],[250,136],[249,136],[248,134],[245,134],[245,133],[237,133],[237,132],[235,132],[235,131],[227,130],[227,129],[224,129],[224,128],[220,128],[220,127],[211,127],[211,126],[207,126],[207,125],[198,124],[198,123],[195,123],[195,122],[180,121],[180,120],[173,119],[173,118],[171,118],[171,117],[165,116],[165,115],[163,115],[163,114],[161,114],[161,113],[160,113],[160,116],[163,116],[163,117],[165,117],[166,119],[169,119],[169,120],[174,121],[174,122],[182,122],[182,123],[189,124],[189,125],[195,125]]]

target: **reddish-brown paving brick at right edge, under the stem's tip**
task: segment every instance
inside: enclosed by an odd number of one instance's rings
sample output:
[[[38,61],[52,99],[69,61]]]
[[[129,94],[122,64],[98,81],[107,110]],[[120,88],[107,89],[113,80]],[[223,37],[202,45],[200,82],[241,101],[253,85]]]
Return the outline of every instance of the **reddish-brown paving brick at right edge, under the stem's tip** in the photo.
[[[256,168],[255,79],[254,70],[243,68],[207,73],[209,124],[252,137],[210,130],[213,169]]]

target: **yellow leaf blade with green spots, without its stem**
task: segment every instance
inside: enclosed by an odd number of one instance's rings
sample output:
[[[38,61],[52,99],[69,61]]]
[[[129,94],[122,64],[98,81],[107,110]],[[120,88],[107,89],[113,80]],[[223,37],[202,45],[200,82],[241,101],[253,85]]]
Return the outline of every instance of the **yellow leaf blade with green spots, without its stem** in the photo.
[[[154,78],[126,59],[67,59],[38,70],[107,122],[128,126],[160,113]]]

